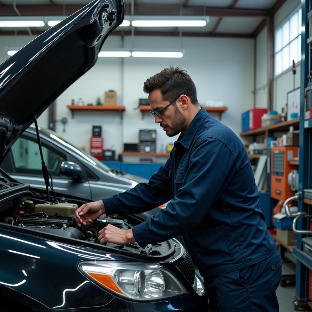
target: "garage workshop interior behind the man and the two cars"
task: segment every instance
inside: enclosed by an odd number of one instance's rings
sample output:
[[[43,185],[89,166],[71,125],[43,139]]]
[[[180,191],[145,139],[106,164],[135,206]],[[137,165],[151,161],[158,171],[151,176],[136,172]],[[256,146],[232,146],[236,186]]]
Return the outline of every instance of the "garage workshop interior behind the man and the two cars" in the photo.
[[[88,3],[0,0],[0,64]],[[310,10],[309,0],[125,0],[124,22],[105,41],[95,66],[38,118],[41,129],[105,168],[149,179],[178,135],[168,137],[154,123],[143,83],[168,66],[185,69],[200,106],[246,147],[259,206],[283,261],[276,291],[282,312],[312,309]],[[144,26],[144,20],[158,24]],[[161,27],[166,20],[198,26]],[[31,135],[11,148],[15,168],[1,165],[16,179],[41,172]],[[65,158],[42,148],[57,178]]]

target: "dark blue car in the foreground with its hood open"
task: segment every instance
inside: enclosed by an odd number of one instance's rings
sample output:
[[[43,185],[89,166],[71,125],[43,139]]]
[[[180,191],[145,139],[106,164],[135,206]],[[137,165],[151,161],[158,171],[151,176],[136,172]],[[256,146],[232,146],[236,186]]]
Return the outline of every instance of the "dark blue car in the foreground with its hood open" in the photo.
[[[94,66],[123,17],[122,0],[95,0],[0,66],[0,162],[37,116]],[[74,212],[89,199],[54,193],[43,172],[46,190],[0,170],[0,311],[208,310],[202,281],[177,240],[145,248],[98,244],[107,224],[128,229],[143,219],[103,215],[78,229]]]

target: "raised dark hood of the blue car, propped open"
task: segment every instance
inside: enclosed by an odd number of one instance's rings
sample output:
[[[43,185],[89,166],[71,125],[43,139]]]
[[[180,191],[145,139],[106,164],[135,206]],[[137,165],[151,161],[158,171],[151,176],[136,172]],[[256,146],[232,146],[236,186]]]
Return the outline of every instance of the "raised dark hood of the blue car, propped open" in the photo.
[[[95,65],[123,19],[123,0],[94,0],[0,65],[0,163],[34,116]]]

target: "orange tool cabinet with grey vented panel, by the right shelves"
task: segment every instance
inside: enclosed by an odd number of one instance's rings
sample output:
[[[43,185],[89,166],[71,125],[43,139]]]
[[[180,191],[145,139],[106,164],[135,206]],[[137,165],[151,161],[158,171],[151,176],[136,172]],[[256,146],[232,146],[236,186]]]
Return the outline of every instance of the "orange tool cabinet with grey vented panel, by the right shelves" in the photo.
[[[271,148],[271,198],[285,201],[294,196],[287,177],[291,170],[298,169],[298,166],[289,164],[289,160],[298,156],[297,153],[297,146]]]

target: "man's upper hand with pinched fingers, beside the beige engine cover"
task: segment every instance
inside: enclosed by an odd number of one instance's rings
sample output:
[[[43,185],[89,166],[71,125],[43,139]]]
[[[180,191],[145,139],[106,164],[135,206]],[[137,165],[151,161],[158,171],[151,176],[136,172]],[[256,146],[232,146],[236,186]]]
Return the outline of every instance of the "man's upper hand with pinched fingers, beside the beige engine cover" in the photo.
[[[78,227],[89,225],[93,220],[105,213],[105,207],[102,200],[97,202],[88,202],[83,204],[75,211],[75,220]]]

